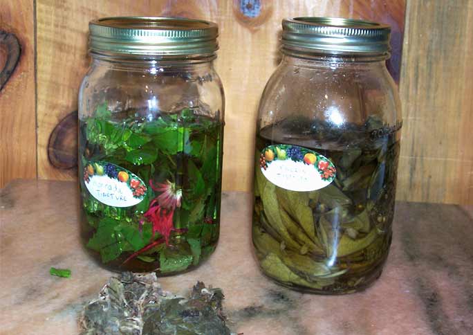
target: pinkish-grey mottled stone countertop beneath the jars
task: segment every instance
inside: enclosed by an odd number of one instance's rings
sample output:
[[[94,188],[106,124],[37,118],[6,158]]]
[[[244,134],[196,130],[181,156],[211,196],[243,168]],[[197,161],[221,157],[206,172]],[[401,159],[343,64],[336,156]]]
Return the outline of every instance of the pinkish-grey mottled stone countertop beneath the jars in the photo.
[[[222,198],[214,255],[195,271],[160,282],[180,294],[197,280],[221,287],[234,332],[472,334],[471,207],[398,203],[381,278],[362,293],[315,296],[261,275],[252,254],[250,194]],[[113,274],[84,253],[78,226],[75,183],[14,181],[0,190],[0,334],[77,334],[82,305]],[[53,277],[50,266],[73,275]]]

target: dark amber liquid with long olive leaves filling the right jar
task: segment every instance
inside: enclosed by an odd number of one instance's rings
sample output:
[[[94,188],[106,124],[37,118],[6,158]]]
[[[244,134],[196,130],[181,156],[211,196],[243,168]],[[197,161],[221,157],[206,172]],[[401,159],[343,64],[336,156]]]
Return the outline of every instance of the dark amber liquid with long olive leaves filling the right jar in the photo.
[[[303,159],[304,147],[336,168],[324,188],[297,192],[273,185],[257,161],[252,239],[263,273],[279,284],[351,293],[380,276],[391,244],[399,141],[390,129],[370,132],[374,122],[340,132],[324,122],[283,120],[259,132],[257,153],[295,145],[284,159]]]

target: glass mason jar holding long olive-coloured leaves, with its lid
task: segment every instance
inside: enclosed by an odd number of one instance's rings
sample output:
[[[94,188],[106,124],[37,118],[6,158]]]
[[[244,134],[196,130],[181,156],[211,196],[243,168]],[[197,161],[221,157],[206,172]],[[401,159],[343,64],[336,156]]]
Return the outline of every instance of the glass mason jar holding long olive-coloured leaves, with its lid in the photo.
[[[257,119],[252,239],[286,287],[351,293],[381,274],[402,125],[389,35],[353,19],[283,21]]]

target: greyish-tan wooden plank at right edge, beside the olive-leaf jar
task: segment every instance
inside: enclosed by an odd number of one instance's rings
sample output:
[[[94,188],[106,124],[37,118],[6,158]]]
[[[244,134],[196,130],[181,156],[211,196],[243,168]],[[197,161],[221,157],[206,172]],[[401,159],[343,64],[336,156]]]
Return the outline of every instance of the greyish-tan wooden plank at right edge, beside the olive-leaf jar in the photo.
[[[409,1],[398,199],[473,203],[473,0]]]

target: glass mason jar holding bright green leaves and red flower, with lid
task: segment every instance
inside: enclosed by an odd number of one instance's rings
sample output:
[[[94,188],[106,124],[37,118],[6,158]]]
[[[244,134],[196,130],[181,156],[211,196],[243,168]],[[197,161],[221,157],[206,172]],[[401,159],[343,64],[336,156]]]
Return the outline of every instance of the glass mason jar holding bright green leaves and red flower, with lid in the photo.
[[[82,239],[114,271],[188,271],[219,239],[223,88],[217,26],[91,21],[79,93]]]

